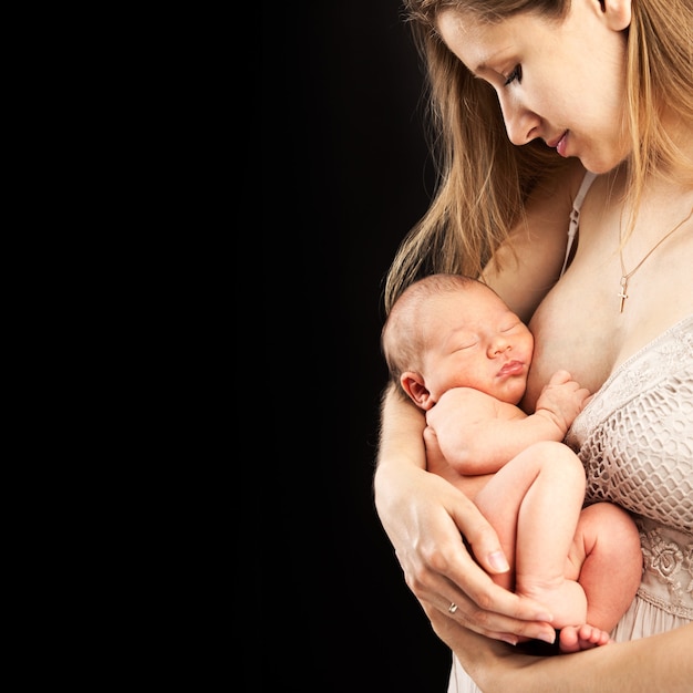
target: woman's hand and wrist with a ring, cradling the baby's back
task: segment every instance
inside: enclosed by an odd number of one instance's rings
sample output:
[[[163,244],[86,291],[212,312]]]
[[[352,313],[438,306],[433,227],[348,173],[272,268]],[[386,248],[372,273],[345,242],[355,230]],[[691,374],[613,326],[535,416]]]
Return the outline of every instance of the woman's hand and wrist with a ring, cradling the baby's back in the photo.
[[[374,478],[375,507],[407,586],[418,601],[490,638],[526,635],[552,642],[551,614],[493,582],[467,551],[463,536],[490,573],[504,572],[496,532],[476,506],[445,479],[425,469],[420,410],[391,386],[383,399]],[[507,569],[507,568],[506,568]],[[485,606],[484,606],[485,604]]]

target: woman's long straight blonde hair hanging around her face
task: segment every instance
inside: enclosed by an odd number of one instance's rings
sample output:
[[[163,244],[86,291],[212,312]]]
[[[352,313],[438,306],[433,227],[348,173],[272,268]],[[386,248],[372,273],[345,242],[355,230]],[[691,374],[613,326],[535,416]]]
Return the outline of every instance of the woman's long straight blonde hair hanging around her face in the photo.
[[[570,0],[404,0],[405,21],[426,69],[428,144],[436,187],[428,210],[402,241],[384,283],[385,311],[417,278],[433,272],[479,276],[508,230],[523,220],[528,193],[568,162],[541,141],[508,139],[493,87],[475,79],[436,29],[444,9],[500,21],[520,12],[560,19]],[[629,195],[637,211],[644,180],[693,163],[662,127],[664,104],[693,121],[692,0],[632,0],[628,30]],[[665,174],[664,174],[665,175]],[[566,220],[566,224],[568,220]]]

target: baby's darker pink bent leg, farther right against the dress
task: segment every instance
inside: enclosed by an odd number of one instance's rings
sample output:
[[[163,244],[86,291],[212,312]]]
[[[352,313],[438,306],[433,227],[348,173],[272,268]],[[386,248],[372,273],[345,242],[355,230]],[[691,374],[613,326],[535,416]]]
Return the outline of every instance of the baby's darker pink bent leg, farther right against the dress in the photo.
[[[580,514],[566,568],[587,594],[587,629],[563,629],[560,650],[575,652],[609,641],[630,607],[642,578],[640,536],[630,515],[610,503],[597,503]]]

